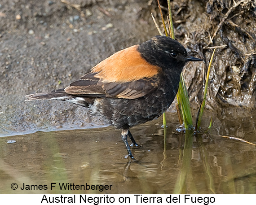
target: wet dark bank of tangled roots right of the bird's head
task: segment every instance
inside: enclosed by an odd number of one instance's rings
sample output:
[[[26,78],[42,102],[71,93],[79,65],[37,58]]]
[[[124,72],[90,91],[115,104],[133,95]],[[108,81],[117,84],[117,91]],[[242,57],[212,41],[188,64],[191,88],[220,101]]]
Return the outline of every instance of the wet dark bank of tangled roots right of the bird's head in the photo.
[[[193,54],[197,53],[208,64],[217,46],[208,105],[255,107],[255,1],[185,0],[174,1],[172,8],[176,37]],[[188,65],[184,74],[195,104],[202,101],[207,64]]]

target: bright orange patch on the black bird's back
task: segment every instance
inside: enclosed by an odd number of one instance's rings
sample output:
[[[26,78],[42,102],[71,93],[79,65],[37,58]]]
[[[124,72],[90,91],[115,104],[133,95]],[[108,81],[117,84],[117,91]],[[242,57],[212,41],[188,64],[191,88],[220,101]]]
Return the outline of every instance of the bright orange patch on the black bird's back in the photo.
[[[130,82],[156,75],[160,68],[151,65],[137,51],[138,45],[125,48],[101,61],[92,68],[94,77],[102,82]]]

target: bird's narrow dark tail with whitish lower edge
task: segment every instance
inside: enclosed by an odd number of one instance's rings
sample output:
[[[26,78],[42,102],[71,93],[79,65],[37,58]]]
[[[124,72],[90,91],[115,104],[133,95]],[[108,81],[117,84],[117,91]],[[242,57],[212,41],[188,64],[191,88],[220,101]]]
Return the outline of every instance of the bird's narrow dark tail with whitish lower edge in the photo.
[[[51,92],[35,93],[26,96],[25,101],[31,100],[62,100],[88,107],[89,104],[93,104],[95,98],[89,98],[84,96],[74,96],[67,94],[64,89],[53,90]]]

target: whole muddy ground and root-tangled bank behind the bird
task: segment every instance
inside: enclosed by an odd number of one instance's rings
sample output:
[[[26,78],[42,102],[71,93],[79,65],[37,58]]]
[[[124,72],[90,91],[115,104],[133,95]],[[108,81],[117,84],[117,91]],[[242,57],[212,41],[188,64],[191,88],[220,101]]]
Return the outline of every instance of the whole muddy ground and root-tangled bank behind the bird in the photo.
[[[204,59],[184,71],[191,103],[202,99],[205,62],[218,46],[208,107],[255,107],[255,2],[182,0],[172,10],[177,40]],[[160,19],[153,0],[2,0],[0,135],[102,125],[82,107],[25,96],[66,87],[114,52],[158,35],[151,12]]]

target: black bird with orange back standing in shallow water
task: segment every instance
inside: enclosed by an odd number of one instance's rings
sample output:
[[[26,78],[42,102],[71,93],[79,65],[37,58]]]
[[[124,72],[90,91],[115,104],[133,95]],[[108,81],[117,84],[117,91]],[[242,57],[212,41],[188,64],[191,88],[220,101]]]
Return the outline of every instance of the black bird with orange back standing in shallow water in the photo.
[[[161,116],[172,104],[181,72],[189,56],[177,40],[156,35],[141,44],[120,50],[95,65],[68,87],[26,96],[30,100],[63,100],[88,108],[121,130],[121,139],[131,159],[128,144],[138,146],[130,128]]]

